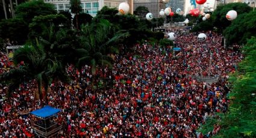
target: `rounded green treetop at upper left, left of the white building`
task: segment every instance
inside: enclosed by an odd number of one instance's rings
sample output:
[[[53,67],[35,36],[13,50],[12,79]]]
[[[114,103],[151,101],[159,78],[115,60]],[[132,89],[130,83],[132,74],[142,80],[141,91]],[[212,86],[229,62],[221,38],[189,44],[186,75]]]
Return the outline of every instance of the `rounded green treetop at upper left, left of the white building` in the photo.
[[[43,2],[42,0],[28,1],[17,6],[16,17],[30,23],[35,16],[46,16],[49,14],[56,14],[54,5]]]

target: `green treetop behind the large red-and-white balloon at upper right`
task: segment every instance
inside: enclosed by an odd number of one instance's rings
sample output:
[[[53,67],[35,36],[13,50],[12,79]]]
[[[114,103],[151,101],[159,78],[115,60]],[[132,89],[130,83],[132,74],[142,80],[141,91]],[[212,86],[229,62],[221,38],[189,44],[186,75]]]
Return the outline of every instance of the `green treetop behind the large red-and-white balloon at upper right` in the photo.
[[[240,2],[218,6],[211,17],[213,18],[213,25],[219,29],[220,32],[222,32],[227,26],[231,25],[231,21],[226,19],[226,13],[228,13],[229,10],[235,10],[237,11],[237,15],[240,15],[251,11],[251,7]]]

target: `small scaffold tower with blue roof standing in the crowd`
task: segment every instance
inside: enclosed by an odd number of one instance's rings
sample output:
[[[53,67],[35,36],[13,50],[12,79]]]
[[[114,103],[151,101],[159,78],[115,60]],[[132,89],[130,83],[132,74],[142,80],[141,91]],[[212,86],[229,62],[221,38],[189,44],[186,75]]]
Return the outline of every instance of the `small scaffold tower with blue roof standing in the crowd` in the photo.
[[[60,109],[51,106],[45,106],[42,109],[31,112],[33,115],[32,128],[36,135],[40,137],[57,137],[61,130],[61,125],[55,122]]]

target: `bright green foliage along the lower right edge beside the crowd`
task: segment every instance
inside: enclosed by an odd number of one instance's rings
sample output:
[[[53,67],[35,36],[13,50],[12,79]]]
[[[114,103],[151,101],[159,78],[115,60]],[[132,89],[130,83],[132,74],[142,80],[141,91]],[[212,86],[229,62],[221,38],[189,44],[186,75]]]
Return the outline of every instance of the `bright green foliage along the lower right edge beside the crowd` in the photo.
[[[252,37],[243,48],[245,59],[239,64],[229,82],[232,84],[229,112],[220,114],[221,126],[215,137],[256,137],[256,38]],[[216,121],[216,120],[215,120]],[[205,126],[210,126],[207,121]],[[206,130],[209,127],[205,127]]]

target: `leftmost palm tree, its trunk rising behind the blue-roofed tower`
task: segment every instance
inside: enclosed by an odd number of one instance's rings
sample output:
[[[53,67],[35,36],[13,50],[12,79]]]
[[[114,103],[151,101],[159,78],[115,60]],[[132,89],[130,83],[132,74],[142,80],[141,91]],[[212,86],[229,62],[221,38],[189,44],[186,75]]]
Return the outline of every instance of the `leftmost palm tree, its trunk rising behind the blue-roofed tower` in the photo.
[[[54,69],[54,62],[46,59],[46,54],[41,46],[25,46],[14,53],[14,64],[24,62],[25,66],[14,68],[1,75],[1,80],[10,81],[17,88],[25,80],[37,80],[39,97],[42,100],[42,77]]]

